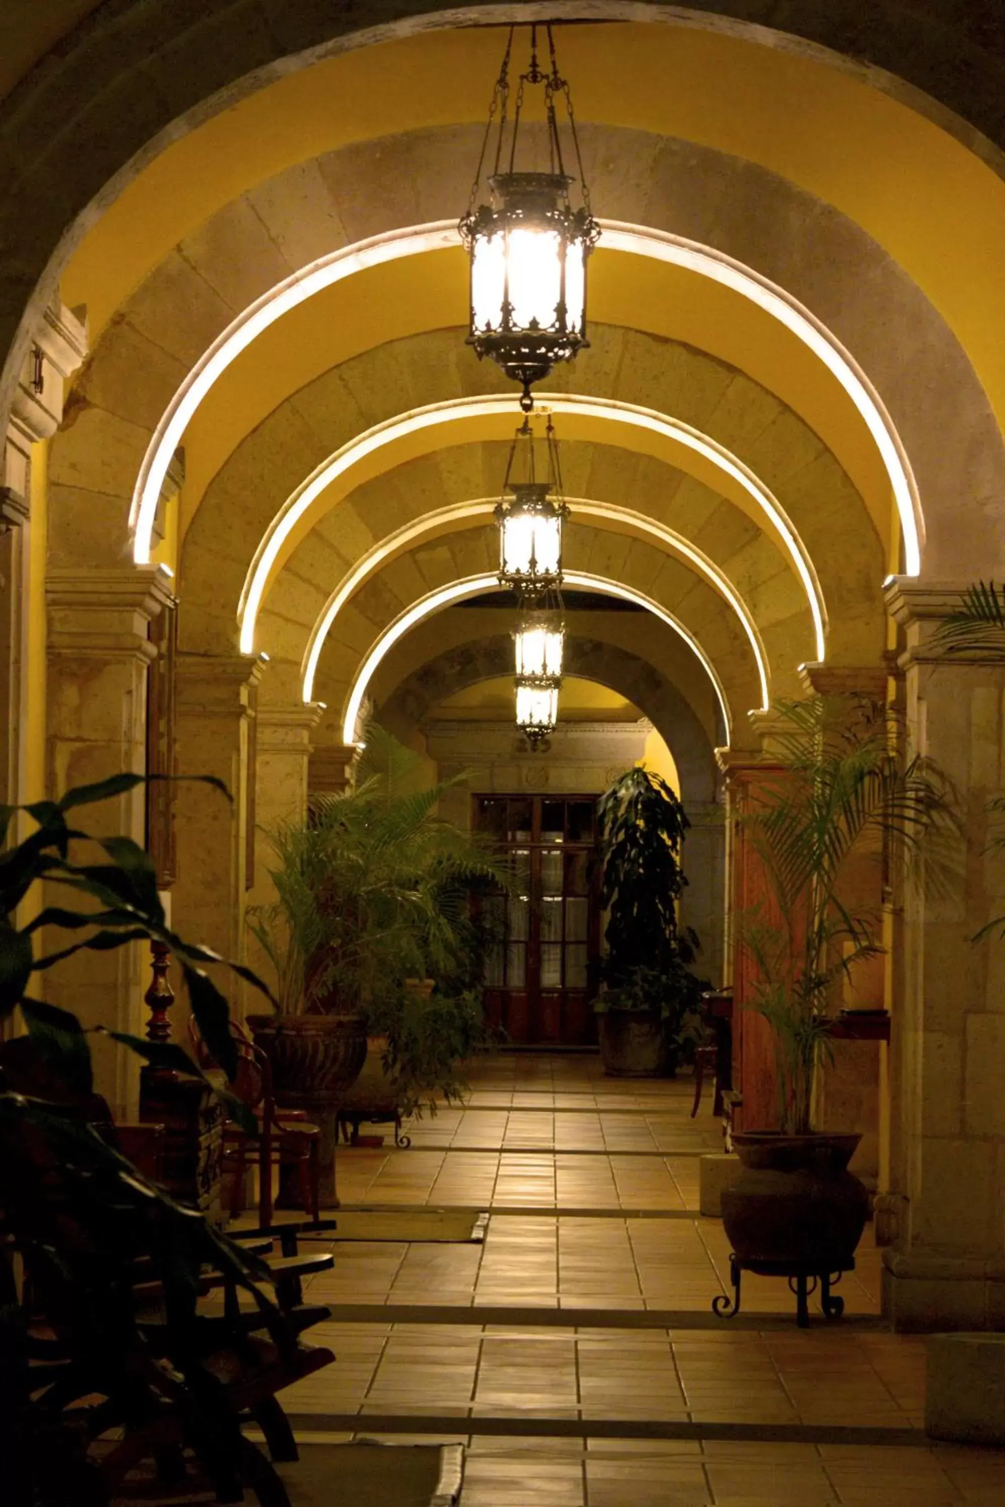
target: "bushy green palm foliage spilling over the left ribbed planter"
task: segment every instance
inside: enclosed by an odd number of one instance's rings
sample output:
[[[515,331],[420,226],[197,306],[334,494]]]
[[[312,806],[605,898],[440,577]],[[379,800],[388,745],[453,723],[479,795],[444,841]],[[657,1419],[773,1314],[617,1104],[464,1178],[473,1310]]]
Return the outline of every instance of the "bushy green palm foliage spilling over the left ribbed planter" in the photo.
[[[437,814],[461,776],[416,788],[417,764],[368,728],[356,787],[270,832],[277,898],[249,916],[280,1004],[249,1025],[277,1093],[318,1115],[331,1147],[341,1108],[398,1114],[423,1096],[458,1096],[458,1058],[484,1038],[481,1002],[458,987],[472,943],[467,892],[505,876],[476,835]],[[350,1029],[351,1076],[318,1082],[322,1056],[303,1043]],[[353,1097],[357,1076],[366,1105]]]

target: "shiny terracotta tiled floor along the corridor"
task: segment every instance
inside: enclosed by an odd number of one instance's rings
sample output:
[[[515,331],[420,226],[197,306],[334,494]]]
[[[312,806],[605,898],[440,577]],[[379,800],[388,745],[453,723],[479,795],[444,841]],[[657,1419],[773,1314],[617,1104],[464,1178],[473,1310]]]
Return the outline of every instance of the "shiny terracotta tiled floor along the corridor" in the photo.
[[[461,1507],[1005,1502],[1005,1451],[921,1432],[924,1341],[878,1325],[869,1239],[842,1284],[845,1323],[799,1331],[785,1284],[746,1278],[753,1320],[713,1317],[728,1246],[696,1212],[696,1157],[720,1136],[708,1102],[689,1111],[687,1082],[500,1055],[463,1111],[410,1127],[411,1150],[341,1151],[347,1204],[491,1218],[484,1245],[338,1246],[309,1290],[338,1305],[312,1331],[338,1361],[285,1394],[300,1430],[374,1420],[416,1439],[428,1423],[467,1444]],[[350,1322],[357,1305],[387,1320]],[[423,1322],[431,1305],[444,1322]],[[512,1319],[487,1323],[490,1305]]]

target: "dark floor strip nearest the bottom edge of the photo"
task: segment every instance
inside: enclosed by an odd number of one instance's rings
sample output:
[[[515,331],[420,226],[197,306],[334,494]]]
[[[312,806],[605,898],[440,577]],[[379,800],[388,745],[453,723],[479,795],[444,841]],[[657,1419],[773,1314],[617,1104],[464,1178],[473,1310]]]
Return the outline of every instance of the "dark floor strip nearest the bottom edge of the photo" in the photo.
[[[315,1433],[502,1435],[527,1439],[687,1439],[735,1444],[851,1444],[928,1448],[924,1429],[811,1423],[683,1423],[674,1420],[469,1417],[467,1414],[289,1414]]]

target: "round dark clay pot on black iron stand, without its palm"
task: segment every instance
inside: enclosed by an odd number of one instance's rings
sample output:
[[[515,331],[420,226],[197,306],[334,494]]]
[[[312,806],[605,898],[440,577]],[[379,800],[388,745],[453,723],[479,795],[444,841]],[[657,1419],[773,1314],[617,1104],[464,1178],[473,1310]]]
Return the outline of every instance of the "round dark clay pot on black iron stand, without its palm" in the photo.
[[[869,1213],[848,1171],[860,1136],[738,1130],[740,1175],[722,1192],[722,1222],[741,1263],[841,1272]]]

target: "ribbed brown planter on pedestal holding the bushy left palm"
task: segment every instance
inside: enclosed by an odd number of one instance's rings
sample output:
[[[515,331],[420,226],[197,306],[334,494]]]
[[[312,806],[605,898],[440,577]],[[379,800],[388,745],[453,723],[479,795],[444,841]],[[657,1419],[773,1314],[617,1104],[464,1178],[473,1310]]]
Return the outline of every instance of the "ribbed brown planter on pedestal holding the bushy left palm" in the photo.
[[[249,1016],[247,1025],[255,1044],[268,1056],[276,1103],[303,1109],[321,1129],[321,1201],[334,1209],[339,1105],[366,1061],[366,1019],[359,1014]]]

